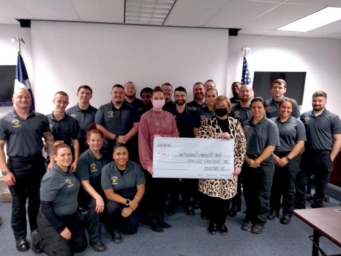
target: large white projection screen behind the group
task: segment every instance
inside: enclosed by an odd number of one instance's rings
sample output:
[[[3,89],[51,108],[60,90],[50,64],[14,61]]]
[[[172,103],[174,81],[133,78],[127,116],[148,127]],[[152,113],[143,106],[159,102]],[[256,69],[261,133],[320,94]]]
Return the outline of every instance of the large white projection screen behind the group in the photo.
[[[151,27],[32,21],[36,109],[53,110],[52,98],[66,91],[76,104],[76,88],[94,90],[92,104],[110,101],[115,83],[132,80],[140,89],[170,82],[189,90],[214,79],[226,93],[227,29]]]

